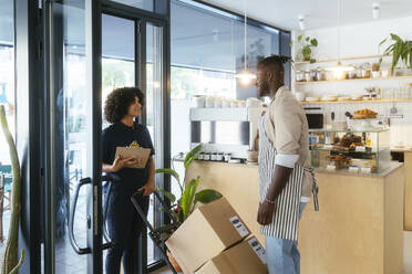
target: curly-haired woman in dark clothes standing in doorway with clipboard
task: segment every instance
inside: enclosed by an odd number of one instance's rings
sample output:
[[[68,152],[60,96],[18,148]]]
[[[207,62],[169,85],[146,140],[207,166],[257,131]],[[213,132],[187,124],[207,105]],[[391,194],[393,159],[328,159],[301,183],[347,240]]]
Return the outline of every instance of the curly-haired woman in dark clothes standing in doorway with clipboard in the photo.
[[[151,135],[145,126],[134,118],[142,112],[144,95],[137,87],[114,89],[105,102],[104,115],[112,125],[102,133],[103,172],[116,178],[112,182],[112,192],[107,202],[107,230],[113,247],[107,251],[106,273],[119,274],[121,261],[125,274],[137,273],[138,238],[143,223],[134,210],[131,196],[143,191],[140,205],[148,211],[148,196],[155,189],[154,148]],[[152,149],[147,165],[143,169],[132,168],[134,158],[115,157],[117,147],[142,147]]]

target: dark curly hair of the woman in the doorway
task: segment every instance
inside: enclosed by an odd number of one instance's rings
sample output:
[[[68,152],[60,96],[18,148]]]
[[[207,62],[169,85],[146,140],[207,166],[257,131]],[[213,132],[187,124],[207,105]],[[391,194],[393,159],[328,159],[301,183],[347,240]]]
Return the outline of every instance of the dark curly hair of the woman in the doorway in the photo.
[[[143,106],[144,95],[137,87],[121,87],[109,94],[104,105],[104,116],[111,124],[117,123],[127,115],[128,107],[136,97]]]

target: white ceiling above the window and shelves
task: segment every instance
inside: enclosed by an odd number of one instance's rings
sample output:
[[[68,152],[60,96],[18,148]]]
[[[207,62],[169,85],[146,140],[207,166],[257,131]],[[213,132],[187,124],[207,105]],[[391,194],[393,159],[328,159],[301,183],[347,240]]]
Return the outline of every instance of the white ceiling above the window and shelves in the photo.
[[[203,0],[239,13],[243,0]],[[298,17],[305,14],[307,29],[328,28],[338,24],[338,0],[246,0],[248,15],[268,24],[286,29],[299,28]],[[412,0],[342,0],[341,24],[373,21],[372,3],[380,2],[380,19],[412,15]]]

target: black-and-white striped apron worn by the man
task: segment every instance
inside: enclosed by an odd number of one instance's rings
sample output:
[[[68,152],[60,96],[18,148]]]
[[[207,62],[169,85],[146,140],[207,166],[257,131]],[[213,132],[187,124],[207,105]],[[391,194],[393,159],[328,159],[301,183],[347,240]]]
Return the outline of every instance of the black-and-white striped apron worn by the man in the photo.
[[[276,148],[266,136],[264,116],[259,120],[259,189],[260,202],[265,201],[266,193],[275,177]],[[278,239],[298,240],[299,205],[302,190],[303,167],[295,165],[282,191],[276,198],[275,215],[272,222],[262,225],[260,232],[267,236]]]

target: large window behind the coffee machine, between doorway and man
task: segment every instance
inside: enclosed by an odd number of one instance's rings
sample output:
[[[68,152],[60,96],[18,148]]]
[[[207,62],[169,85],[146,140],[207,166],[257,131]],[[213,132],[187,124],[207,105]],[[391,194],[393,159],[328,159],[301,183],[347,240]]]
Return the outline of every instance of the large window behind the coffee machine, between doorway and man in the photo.
[[[247,65],[279,53],[280,31],[248,20]],[[245,99],[254,85],[241,86],[235,74],[244,68],[241,17],[192,0],[172,0],[172,156],[189,149],[188,113],[193,95]]]

